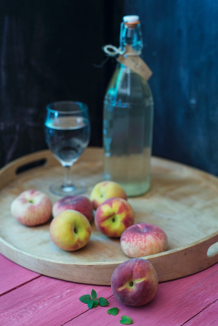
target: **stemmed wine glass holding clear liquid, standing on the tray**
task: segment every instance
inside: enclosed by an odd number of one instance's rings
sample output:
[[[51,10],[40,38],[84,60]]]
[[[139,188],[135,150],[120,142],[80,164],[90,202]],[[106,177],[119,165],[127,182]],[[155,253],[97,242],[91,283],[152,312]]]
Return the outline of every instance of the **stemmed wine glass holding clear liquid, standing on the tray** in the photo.
[[[60,196],[78,195],[86,191],[83,182],[72,182],[71,167],[85,150],[90,139],[90,120],[86,104],[58,101],[46,106],[45,140],[58,161],[65,167],[63,182],[50,186]]]

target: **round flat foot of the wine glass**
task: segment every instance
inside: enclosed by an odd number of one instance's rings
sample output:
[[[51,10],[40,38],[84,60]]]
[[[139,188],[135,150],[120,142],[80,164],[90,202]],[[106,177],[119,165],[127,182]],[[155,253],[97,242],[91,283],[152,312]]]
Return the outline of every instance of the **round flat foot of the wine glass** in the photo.
[[[73,185],[63,185],[63,181],[54,183],[49,187],[50,191],[58,196],[81,195],[86,192],[86,185],[82,181],[76,181]]]

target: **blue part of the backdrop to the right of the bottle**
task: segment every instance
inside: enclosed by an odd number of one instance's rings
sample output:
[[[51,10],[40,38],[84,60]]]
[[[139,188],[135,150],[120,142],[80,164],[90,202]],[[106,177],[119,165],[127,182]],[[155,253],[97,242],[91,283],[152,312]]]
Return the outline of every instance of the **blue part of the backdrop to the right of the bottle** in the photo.
[[[153,70],[153,154],[218,175],[218,1],[126,0]]]

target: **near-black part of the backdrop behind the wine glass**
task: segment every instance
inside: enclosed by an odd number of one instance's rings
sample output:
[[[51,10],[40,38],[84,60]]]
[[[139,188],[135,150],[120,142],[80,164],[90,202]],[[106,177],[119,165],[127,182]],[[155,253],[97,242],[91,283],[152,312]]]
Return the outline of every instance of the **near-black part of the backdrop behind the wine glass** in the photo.
[[[47,147],[45,106],[55,100],[87,103],[90,145],[101,146],[114,63],[93,64],[118,39],[122,15],[122,0],[0,0],[0,166]]]

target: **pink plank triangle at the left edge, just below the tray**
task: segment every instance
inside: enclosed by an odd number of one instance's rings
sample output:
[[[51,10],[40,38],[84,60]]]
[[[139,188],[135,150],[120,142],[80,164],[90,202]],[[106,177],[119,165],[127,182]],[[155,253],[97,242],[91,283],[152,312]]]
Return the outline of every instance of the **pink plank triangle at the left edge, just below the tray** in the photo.
[[[0,254],[0,295],[38,276],[40,274],[23,268]]]

